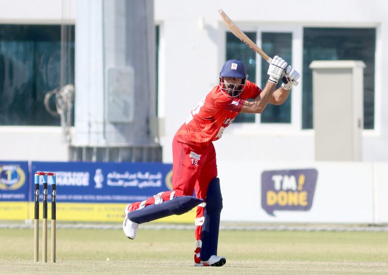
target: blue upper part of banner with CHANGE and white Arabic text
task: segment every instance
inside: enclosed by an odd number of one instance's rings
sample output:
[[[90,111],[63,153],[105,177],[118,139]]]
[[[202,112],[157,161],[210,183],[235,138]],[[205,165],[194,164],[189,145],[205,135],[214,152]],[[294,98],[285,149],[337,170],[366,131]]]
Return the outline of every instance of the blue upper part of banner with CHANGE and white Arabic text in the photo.
[[[55,172],[58,202],[128,204],[171,189],[171,170],[163,163],[32,161],[30,182],[35,172]]]

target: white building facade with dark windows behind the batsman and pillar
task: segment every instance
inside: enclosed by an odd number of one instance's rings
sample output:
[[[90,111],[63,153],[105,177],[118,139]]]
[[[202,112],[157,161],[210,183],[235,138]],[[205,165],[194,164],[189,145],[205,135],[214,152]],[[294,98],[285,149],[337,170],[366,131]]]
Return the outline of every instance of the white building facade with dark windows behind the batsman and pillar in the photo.
[[[77,17],[82,16],[77,14],[77,3],[75,0],[19,0],[2,6],[0,43],[3,45],[1,54],[5,57],[0,59],[3,79],[0,82],[1,159],[67,160],[68,144],[63,140],[60,120],[49,117],[42,106],[35,106],[33,102],[41,100],[54,87],[50,86],[49,79],[60,82],[60,76],[49,69],[50,66],[58,68],[58,53],[47,57],[45,47],[53,48],[54,53],[58,51],[58,43],[61,43],[58,28],[65,24],[71,32]],[[312,73],[308,67],[313,60],[362,60],[367,65],[364,69],[362,160],[388,160],[388,110],[385,108],[388,96],[383,91],[384,76],[388,72],[388,54],[383,50],[384,45],[388,45],[388,4],[385,1],[328,0],[318,9],[314,2],[305,0],[298,0],[292,6],[284,0],[276,6],[261,1],[243,0],[237,4],[230,0],[199,0],[188,7],[187,1],[154,1],[157,112],[164,121],[164,135],[160,138],[163,162],[172,161],[171,141],[175,131],[190,110],[218,85],[218,73],[226,59],[241,59],[247,66],[248,79],[258,86],[265,85],[268,64],[227,31],[218,14],[220,8],[265,52],[270,56],[282,56],[302,76],[300,85],[292,88],[291,96],[282,106],[268,106],[261,115],[236,118],[224,137],[214,143],[219,160],[314,160]],[[21,26],[24,26],[24,33]],[[39,40],[40,34],[48,33],[48,27],[57,35],[51,37],[51,44],[46,38]],[[26,32],[36,33],[31,38],[36,40],[32,46],[23,42],[23,39],[28,40],[23,38]],[[15,37],[7,38],[10,34]],[[73,43],[71,35],[68,37],[69,43]],[[41,48],[40,53],[33,45]],[[71,45],[68,48],[72,49]],[[26,56],[33,52],[30,61],[27,57],[24,61],[16,58],[20,64],[31,63],[31,70],[17,71],[21,66],[16,66],[15,62],[15,66],[10,67],[10,58],[21,54],[15,49],[23,49]],[[42,64],[36,64],[38,61]],[[67,77],[71,81],[71,72]],[[327,83],[327,89],[331,85]],[[30,87],[27,95],[22,92],[26,87]],[[75,90],[77,92],[77,86]],[[31,93],[38,95],[29,98]],[[20,98],[29,101],[23,102],[18,100]],[[327,111],[330,112],[330,106]],[[46,154],[41,154],[43,149]]]

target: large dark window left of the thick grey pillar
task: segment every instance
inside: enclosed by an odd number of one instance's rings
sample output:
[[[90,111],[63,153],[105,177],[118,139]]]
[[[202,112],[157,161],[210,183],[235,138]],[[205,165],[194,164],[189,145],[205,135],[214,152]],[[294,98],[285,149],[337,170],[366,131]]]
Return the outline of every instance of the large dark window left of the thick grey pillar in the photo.
[[[74,85],[74,26],[68,27],[71,60],[63,73]],[[60,125],[43,104],[60,81],[60,25],[0,25],[0,125]]]

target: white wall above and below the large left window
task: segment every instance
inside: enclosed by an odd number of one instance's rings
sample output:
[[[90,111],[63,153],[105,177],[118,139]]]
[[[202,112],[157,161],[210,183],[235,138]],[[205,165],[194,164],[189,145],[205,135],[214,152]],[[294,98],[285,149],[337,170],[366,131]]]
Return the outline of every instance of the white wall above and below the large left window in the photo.
[[[74,23],[76,0],[0,0],[0,24]],[[66,161],[61,127],[0,126],[1,160]]]

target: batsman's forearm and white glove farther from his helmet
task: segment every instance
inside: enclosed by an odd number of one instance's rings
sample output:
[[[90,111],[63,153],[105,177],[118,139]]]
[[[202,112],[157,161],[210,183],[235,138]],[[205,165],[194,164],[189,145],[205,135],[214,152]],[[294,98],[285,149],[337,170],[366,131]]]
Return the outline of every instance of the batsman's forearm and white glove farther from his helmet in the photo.
[[[297,84],[297,79],[299,77],[300,73],[291,66],[288,66],[287,69],[285,69],[285,75],[282,77],[282,86],[273,92],[269,102],[274,105],[283,104],[290,94],[291,87]]]

